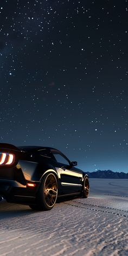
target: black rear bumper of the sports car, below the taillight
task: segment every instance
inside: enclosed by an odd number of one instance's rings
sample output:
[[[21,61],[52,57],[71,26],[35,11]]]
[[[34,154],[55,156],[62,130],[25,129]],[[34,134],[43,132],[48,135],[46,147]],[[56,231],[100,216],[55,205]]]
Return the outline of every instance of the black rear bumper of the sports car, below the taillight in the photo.
[[[36,193],[40,183],[36,187],[27,187],[14,180],[0,179],[0,195],[12,203],[35,203]]]

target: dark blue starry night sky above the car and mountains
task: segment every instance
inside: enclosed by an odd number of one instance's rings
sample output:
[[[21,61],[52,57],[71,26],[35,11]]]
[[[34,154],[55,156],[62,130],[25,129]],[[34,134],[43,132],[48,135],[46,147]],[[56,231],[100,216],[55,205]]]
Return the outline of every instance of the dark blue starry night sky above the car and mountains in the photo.
[[[1,143],[128,172],[128,1],[1,0]]]

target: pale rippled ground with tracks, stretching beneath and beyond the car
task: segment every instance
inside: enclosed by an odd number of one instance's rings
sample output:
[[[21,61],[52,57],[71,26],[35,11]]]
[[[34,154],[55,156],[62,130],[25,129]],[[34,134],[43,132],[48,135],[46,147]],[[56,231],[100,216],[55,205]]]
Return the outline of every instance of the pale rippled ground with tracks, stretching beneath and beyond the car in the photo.
[[[90,179],[88,199],[49,212],[0,203],[0,255],[128,255],[128,180]]]

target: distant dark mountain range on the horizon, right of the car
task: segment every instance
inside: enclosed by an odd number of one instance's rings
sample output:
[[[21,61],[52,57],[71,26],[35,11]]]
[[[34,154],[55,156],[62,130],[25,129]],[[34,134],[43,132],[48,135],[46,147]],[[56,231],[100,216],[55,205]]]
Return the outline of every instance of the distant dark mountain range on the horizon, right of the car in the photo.
[[[128,178],[125,172],[114,172],[111,170],[86,172],[89,178]]]

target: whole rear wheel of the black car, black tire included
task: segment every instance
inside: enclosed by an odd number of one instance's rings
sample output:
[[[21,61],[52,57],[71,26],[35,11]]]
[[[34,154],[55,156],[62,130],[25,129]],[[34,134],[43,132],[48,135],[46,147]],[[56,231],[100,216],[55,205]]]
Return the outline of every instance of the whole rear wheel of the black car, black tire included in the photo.
[[[57,179],[53,172],[43,176],[39,191],[36,197],[36,204],[29,207],[34,210],[51,210],[57,199]]]

